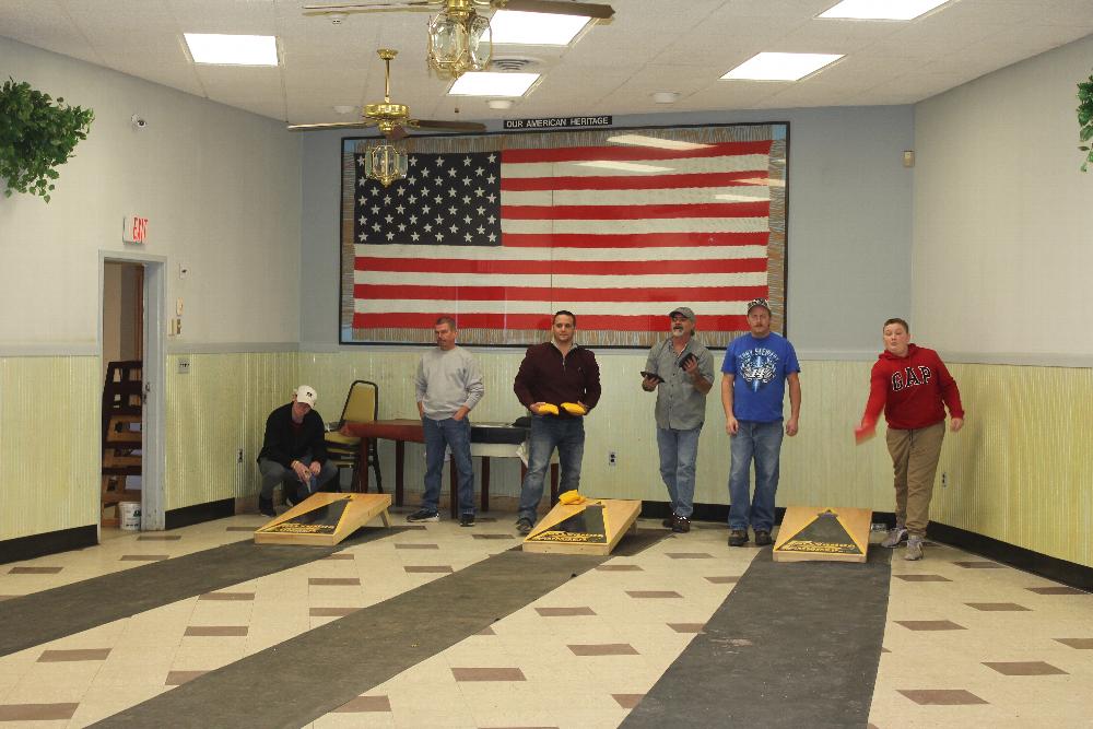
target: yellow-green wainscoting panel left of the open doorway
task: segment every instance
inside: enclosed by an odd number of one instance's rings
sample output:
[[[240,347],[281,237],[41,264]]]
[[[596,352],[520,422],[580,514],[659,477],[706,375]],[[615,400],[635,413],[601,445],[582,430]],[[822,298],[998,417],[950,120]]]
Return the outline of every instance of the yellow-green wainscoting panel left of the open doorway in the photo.
[[[0,357],[0,540],[98,522],[97,356]]]

